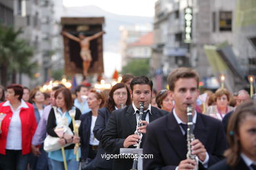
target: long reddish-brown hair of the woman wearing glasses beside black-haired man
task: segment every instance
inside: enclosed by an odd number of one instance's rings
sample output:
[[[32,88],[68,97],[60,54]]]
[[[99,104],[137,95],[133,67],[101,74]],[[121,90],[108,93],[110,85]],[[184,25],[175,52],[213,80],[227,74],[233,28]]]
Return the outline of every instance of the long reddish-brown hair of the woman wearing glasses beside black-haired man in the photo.
[[[114,109],[115,109],[115,101],[113,99],[113,95],[114,95],[114,92],[119,89],[119,88],[125,88],[126,91],[127,91],[127,101],[125,103],[125,105],[131,105],[131,94],[129,92],[129,89],[127,88],[127,86],[125,86],[125,84],[123,83],[117,83],[115,86],[113,86],[110,90],[110,93],[109,93],[109,97],[108,97],[108,101],[106,102],[106,108],[108,110],[110,110],[110,112],[112,112]]]

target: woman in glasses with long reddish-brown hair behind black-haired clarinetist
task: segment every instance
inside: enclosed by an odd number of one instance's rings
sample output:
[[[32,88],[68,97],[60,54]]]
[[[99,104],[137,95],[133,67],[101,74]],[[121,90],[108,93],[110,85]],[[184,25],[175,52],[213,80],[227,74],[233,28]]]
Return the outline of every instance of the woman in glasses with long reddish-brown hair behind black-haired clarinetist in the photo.
[[[105,107],[102,107],[98,110],[98,118],[95,122],[95,128],[93,133],[95,134],[98,141],[101,140],[101,137],[106,129],[108,124],[108,119],[111,116],[113,110],[122,109],[127,105],[131,105],[129,89],[123,83],[117,83],[112,87],[109,93],[108,101],[106,102]],[[102,159],[101,154],[106,153],[102,148],[101,143],[98,147],[98,152],[95,159],[95,164],[97,169],[112,169],[112,160]]]

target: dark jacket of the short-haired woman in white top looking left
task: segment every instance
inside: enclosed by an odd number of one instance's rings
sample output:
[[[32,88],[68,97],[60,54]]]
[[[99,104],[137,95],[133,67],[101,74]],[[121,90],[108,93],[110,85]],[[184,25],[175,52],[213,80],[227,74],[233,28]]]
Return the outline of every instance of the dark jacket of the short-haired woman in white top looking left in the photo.
[[[81,124],[79,126],[79,137],[81,143],[81,160],[85,160],[89,156],[89,142],[91,135],[91,116],[93,113],[87,112],[86,114],[81,115]]]

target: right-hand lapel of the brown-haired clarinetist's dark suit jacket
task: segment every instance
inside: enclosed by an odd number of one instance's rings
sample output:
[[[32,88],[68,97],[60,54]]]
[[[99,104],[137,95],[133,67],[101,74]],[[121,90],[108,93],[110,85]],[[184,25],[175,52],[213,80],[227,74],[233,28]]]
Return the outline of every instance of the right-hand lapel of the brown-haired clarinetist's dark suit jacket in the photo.
[[[197,113],[194,135],[196,139],[199,139],[199,141],[203,143],[203,145],[206,144],[208,137],[207,127],[205,126],[200,113]]]

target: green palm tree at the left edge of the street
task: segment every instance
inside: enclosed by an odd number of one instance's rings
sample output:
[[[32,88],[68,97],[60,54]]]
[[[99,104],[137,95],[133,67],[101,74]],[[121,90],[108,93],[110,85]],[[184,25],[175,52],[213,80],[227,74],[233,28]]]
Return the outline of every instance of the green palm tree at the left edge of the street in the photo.
[[[33,69],[36,68],[36,64],[31,62],[32,47],[28,42],[18,39],[20,33],[21,29],[14,31],[13,27],[0,25],[0,71],[3,86],[7,84],[7,75],[11,74],[12,83],[16,83],[17,73],[25,73],[32,77]]]

